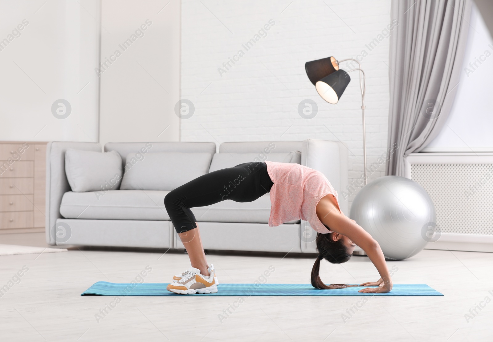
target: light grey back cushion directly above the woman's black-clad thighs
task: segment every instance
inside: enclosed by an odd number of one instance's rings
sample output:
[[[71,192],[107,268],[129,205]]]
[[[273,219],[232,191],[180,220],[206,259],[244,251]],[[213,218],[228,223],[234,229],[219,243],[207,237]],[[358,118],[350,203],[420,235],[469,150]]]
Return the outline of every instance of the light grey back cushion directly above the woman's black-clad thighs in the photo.
[[[301,152],[292,151],[285,153],[269,153],[261,155],[259,153],[216,153],[212,157],[209,172],[232,168],[238,164],[248,162],[264,162],[266,160],[278,163],[301,164]]]

